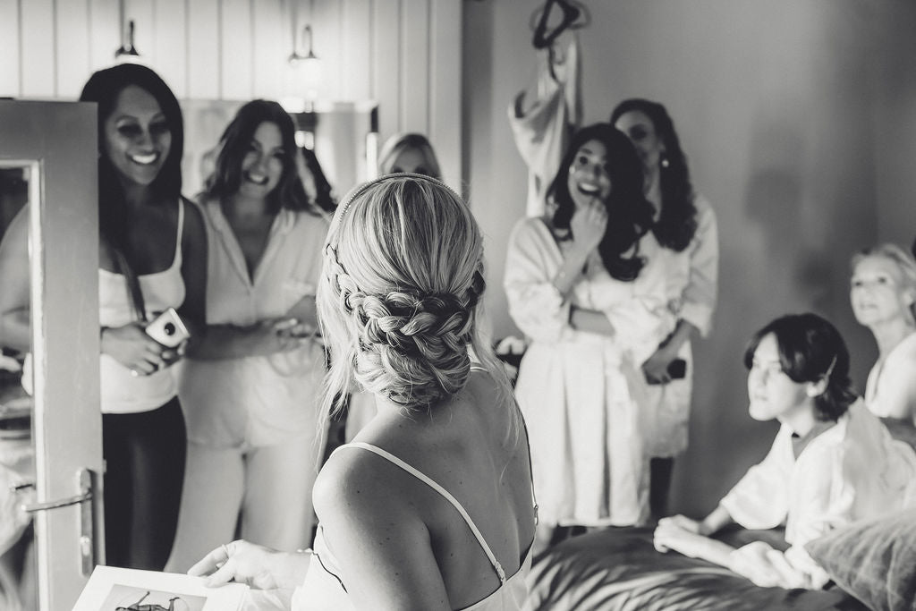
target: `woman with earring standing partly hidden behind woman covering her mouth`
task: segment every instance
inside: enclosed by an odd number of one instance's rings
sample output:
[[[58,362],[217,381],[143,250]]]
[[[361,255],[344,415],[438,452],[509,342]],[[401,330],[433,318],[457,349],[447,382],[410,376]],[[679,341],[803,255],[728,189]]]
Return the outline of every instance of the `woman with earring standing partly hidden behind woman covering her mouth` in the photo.
[[[666,515],[674,456],[687,448],[693,360],[691,339],[709,333],[718,285],[719,247],[713,208],[693,191],[687,158],[662,104],[629,99],[617,104],[611,123],[636,147],[652,204],[651,230],[662,246],[668,303],[676,319],[671,334],[642,364],[649,383],[642,410],[651,456],[650,504]]]

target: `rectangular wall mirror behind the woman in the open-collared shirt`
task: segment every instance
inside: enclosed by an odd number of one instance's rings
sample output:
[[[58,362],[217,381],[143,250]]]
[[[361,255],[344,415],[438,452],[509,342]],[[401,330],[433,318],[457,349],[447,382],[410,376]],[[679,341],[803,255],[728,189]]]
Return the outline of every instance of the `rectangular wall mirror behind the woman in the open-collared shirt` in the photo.
[[[184,157],[182,191],[193,198],[213,171],[215,147],[226,125],[245,101],[182,100]],[[284,107],[296,125],[296,142],[315,153],[339,199],[356,184],[376,175],[378,104],[323,102]]]

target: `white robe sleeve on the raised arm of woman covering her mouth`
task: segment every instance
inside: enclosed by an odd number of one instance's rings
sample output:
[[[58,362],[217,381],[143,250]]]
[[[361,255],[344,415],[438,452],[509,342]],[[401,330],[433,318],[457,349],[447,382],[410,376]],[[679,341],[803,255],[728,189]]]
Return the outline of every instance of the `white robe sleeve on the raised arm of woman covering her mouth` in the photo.
[[[538,218],[522,219],[509,236],[506,256],[506,289],[509,315],[529,338],[559,342],[568,336],[569,301],[553,286],[562,266],[562,255]]]

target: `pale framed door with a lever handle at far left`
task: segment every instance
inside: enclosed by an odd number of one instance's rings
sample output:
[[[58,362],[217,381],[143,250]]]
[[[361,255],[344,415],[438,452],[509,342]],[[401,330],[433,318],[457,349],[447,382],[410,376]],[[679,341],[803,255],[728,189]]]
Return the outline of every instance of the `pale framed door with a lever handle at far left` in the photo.
[[[95,115],[0,99],[0,608],[11,611],[71,609],[104,562]]]

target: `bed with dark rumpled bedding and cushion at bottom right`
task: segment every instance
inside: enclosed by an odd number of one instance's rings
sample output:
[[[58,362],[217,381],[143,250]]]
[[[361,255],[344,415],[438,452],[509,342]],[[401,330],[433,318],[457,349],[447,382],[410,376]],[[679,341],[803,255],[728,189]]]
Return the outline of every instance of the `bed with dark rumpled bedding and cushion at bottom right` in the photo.
[[[916,447],[916,430],[890,426]],[[899,424],[899,423],[898,423]],[[781,530],[726,529],[733,547]],[[565,540],[535,559],[526,611],[916,611],[916,507],[862,520],[810,541],[806,550],[830,575],[821,591],[762,588],[711,562],[652,546],[652,529],[611,528]]]

